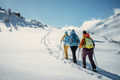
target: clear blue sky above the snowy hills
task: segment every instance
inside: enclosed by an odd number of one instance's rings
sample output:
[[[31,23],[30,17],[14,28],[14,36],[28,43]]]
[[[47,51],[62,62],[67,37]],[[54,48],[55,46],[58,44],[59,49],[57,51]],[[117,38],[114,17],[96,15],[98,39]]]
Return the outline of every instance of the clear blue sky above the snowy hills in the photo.
[[[0,0],[0,6],[20,12],[27,20],[54,27],[80,27],[84,21],[113,15],[113,9],[120,8],[120,0]]]

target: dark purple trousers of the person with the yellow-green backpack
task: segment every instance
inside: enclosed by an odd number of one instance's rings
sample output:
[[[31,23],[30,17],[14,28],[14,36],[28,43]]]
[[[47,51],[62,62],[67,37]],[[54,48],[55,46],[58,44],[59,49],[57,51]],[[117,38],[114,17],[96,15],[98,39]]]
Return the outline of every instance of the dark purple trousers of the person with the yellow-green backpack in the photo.
[[[87,48],[83,48],[83,52],[82,52],[82,61],[83,61],[83,67],[86,68],[86,56],[88,55],[89,61],[92,65],[93,69],[96,69],[96,65],[93,61],[93,49],[87,49]]]

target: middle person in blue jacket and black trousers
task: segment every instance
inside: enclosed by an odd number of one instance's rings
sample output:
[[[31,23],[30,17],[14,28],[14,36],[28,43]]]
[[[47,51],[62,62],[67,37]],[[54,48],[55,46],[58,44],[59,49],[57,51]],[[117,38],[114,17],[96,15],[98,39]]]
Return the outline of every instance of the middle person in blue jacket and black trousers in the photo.
[[[73,62],[74,63],[77,63],[77,60],[76,60],[76,50],[77,50],[79,44],[80,44],[80,39],[77,36],[77,34],[75,33],[75,30],[72,30],[70,32],[70,48],[71,48],[71,51],[72,51]]]

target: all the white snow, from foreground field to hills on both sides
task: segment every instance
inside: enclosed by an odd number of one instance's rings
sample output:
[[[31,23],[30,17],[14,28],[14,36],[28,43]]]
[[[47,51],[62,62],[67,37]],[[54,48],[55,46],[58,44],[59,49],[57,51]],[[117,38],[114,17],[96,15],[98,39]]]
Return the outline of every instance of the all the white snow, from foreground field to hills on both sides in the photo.
[[[9,22],[3,22],[6,16]],[[103,37],[119,41],[119,20],[118,9],[107,20],[93,19],[81,28],[56,29],[0,11],[0,80],[120,80],[120,45]],[[64,32],[70,33],[71,29],[80,39],[83,29],[96,34],[90,35],[96,44],[97,73],[91,71],[88,58],[87,69],[82,68],[82,50],[76,51],[77,64],[71,62],[70,48],[69,59],[64,59],[60,40]]]

